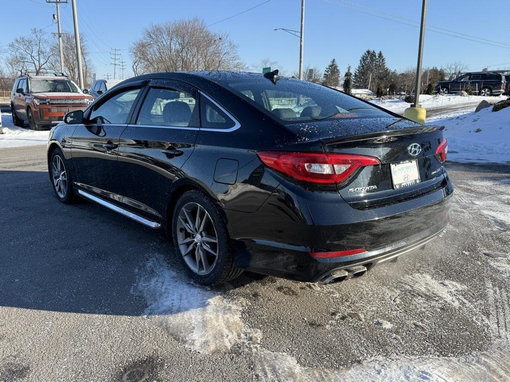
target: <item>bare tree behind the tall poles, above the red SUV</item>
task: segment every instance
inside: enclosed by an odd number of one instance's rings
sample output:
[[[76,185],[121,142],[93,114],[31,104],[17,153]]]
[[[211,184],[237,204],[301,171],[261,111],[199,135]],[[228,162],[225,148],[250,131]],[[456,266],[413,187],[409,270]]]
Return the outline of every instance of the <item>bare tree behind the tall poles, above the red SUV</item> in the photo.
[[[95,68],[90,62],[88,45],[85,36],[82,34],[80,35],[80,43],[82,47],[82,67],[85,84],[92,84]],[[60,50],[58,38],[55,38],[51,50],[53,52],[53,57],[50,59],[49,66],[52,70],[60,71]],[[76,45],[73,34],[65,34],[62,36],[62,50],[64,51],[64,72],[78,83],[78,59],[76,57]]]

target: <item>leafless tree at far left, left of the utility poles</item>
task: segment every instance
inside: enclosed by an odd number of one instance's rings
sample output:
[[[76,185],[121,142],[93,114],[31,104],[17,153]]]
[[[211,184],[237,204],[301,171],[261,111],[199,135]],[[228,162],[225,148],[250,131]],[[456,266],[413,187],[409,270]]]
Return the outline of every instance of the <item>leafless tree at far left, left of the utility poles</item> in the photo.
[[[17,37],[8,46],[7,65],[12,72],[49,69],[53,58],[50,40],[42,30],[33,28],[30,35]]]

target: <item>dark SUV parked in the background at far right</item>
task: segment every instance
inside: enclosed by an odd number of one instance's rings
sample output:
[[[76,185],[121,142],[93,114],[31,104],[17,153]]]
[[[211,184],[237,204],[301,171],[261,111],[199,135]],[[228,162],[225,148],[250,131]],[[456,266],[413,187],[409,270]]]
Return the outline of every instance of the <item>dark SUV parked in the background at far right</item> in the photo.
[[[434,86],[434,92],[439,94],[456,93],[465,90],[471,84],[473,94],[490,96],[501,95],[505,92],[506,79],[501,73],[472,72],[464,73],[453,81],[440,81]]]

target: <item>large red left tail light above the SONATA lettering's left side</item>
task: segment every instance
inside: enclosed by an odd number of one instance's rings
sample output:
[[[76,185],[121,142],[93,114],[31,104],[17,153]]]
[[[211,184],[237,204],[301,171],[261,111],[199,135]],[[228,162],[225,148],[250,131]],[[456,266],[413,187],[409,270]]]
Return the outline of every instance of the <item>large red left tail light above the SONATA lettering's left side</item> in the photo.
[[[373,156],[353,154],[259,151],[257,155],[267,167],[315,184],[342,183],[360,167],[380,165]]]

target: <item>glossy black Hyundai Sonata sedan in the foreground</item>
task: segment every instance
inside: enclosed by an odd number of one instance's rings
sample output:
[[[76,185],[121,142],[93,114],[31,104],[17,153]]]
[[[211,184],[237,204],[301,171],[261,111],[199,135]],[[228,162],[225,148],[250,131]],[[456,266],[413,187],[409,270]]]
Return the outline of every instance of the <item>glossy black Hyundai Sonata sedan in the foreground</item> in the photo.
[[[200,284],[243,269],[330,283],[440,236],[443,127],[277,72],[123,81],[52,129],[57,198],[166,228]]]

